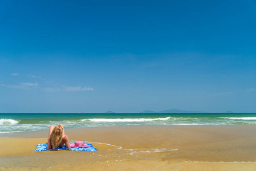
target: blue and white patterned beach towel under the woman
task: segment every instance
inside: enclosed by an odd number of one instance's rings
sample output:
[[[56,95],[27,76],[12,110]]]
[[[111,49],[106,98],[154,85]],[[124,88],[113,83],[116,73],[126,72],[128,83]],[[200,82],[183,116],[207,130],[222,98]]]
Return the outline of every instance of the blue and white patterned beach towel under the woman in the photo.
[[[75,143],[70,143],[75,144]],[[42,152],[42,151],[50,151],[50,150],[71,150],[71,151],[83,151],[83,152],[95,152],[97,149],[94,147],[94,145],[84,142],[84,144],[90,145],[89,147],[75,147],[68,149],[66,146],[55,148],[55,149],[46,149],[47,143],[44,144],[37,144],[35,145],[37,149],[35,149],[36,152]]]

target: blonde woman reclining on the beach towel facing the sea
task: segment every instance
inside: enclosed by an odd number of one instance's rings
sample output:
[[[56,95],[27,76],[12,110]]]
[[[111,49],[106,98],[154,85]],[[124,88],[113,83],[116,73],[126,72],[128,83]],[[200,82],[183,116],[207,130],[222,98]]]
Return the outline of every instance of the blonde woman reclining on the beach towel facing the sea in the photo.
[[[48,143],[47,143],[47,149],[54,149],[58,147],[63,147],[66,145],[66,147],[69,149],[70,141],[68,140],[67,135],[65,135],[64,128],[62,124],[50,126],[49,135],[48,135]]]

